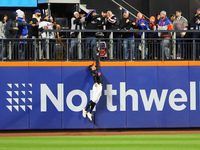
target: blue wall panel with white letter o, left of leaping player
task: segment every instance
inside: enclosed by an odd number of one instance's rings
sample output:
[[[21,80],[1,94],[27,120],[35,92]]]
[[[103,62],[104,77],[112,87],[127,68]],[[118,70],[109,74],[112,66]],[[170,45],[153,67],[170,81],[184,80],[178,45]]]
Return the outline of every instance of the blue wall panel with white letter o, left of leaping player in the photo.
[[[92,88],[92,78],[87,67],[62,67],[63,104],[62,128],[88,129],[94,124],[82,117]]]

